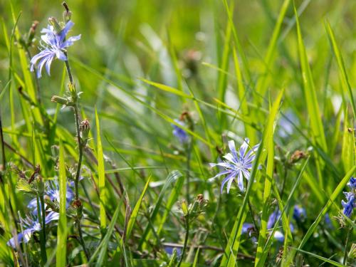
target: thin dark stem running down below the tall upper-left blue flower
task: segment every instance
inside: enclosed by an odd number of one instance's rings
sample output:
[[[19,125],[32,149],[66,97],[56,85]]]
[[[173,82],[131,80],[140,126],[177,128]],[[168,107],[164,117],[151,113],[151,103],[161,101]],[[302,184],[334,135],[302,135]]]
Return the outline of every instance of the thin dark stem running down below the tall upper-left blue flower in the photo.
[[[70,82],[70,90],[73,90],[73,92],[70,92],[70,93],[72,93],[72,95],[73,95],[75,131],[76,131],[77,140],[78,140],[78,152],[79,152],[78,165],[77,165],[77,170],[75,172],[75,178],[74,178],[74,201],[79,202],[80,201],[80,199],[79,199],[79,176],[80,176],[80,168],[82,166],[82,161],[83,161],[83,142],[80,137],[80,127],[79,127],[80,118],[79,118],[79,112],[78,112],[78,95],[77,95],[77,92],[75,91],[75,86],[73,83],[73,76],[72,76],[72,72],[70,71],[67,53],[66,53],[66,56],[67,56],[67,60],[65,61],[65,63],[66,63],[66,69],[67,69],[68,78],[69,78],[69,82]],[[83,211],[81,208],[79,208],[78,211],[80,212],[80,214],[78,214],[78,216],[76,217],[75,224],[77,224],[80,245],[83,247],[85,257],[89,261],[90,256],[89,256],[88,250],[85,246],[85,242],[83,239],[83,231],[82,231],[81,225],[80,225],[80,219],[81,219],[81,215],[82,215],[81,213]]]

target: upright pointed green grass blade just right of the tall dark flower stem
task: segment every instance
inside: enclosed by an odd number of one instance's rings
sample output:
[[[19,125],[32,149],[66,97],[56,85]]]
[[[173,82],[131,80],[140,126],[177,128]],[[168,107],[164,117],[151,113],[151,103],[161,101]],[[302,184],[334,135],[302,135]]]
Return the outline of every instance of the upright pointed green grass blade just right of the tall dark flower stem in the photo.
[[[100,193],[100,231],[102,235],[105,234],[106,229],[106,211],[105,206],[107,205],[107,194],[105,188],[105,166],[104,166],[104,155],[103,155],[103,145],[101,144],[100,136],[100,122],[98,117],[98,111],[95,109],[95,124],[97,131],[97,159],[98,159],[98,177],[99,177],[99,193]]]

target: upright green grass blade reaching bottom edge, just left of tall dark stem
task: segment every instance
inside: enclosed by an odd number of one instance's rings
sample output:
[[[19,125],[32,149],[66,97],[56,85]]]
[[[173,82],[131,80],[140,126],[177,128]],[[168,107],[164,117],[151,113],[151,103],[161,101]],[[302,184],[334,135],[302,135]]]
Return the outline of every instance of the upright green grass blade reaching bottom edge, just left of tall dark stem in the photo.
[[[57,251],[56,251],[56,266],[66,266],[67,253],[67,178],[66,178],[66,163],[64,157],[64,147],[62,141],[59,142],[59,220],[57,227]]]

